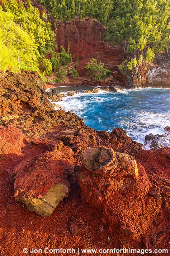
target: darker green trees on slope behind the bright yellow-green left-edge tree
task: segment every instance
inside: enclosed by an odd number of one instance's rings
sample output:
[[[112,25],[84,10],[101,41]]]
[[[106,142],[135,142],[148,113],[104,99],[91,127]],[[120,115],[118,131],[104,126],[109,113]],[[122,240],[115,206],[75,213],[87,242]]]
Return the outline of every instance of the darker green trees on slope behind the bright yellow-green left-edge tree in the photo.
[[[41,19],[39,10],[32,5],[30,0],[25,0],[24,3],[16,0],[3,0],[4,12],[11,12],[16,18],[17,23],[29,35],[35,39],[41,58],[46,58],[46,55],[55,50],[55,37],[48,21]]]

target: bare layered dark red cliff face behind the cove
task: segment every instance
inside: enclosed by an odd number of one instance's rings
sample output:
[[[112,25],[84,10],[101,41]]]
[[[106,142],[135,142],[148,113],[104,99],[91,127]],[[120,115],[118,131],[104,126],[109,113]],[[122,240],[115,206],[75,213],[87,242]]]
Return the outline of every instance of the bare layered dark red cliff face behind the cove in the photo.
[[[58,49],[63,46],[70,49],[75,63],[79,56],[79,66],[76,68],[79,75],[86,76],[86,64],[91,58],[96,58],[108,67],[118,81],[124,81],[118,65],[126,58],[122,46],[113,46],[106,42],[106,28],[95,19],[72,19],[70,22],[58,22],[56,29],[56,43]]]

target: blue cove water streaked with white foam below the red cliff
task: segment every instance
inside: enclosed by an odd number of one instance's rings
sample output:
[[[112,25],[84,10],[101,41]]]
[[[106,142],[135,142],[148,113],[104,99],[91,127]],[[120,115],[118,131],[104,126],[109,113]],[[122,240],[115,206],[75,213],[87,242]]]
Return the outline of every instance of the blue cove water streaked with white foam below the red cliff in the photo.
[[[132,139],[144,143],[147,134],[164,134],[164,127],[169,125],[170,89],[147,87],[118,92],[99,90],[98,93],[82,93],[86,86],[53,89],[63,94],[75,91],[76,94],[56,104],[65,111],[75,112],[85,125],[95,130],[111,132],[121,127]]]

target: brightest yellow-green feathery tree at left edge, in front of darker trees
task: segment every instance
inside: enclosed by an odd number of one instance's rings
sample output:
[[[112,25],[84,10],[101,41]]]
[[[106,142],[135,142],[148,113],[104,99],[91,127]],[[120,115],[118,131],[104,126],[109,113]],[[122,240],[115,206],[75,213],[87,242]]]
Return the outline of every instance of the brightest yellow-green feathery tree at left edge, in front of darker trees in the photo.
[[[33,35],[14,22],[10,11],[3,12],[0,6],[0,69],[13,72],[21,68],[38,71],[39,52]]]

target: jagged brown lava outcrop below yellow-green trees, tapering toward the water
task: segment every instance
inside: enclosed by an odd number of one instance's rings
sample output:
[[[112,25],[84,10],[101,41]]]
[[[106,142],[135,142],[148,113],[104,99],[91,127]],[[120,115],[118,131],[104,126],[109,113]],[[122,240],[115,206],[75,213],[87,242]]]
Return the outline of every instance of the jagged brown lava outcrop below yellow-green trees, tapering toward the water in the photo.
[[[63,96],[58,95],[57,99]],[[15,126],[30,137],[42,135],[61,122],[70,127],[85,126],[76,114],[55,110],[47,98],[42,79],[32,71],[7,72],[0,76],[0,115],[1,125]]]

